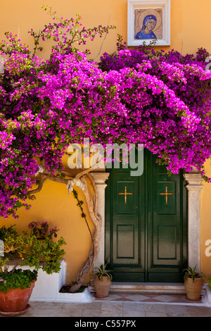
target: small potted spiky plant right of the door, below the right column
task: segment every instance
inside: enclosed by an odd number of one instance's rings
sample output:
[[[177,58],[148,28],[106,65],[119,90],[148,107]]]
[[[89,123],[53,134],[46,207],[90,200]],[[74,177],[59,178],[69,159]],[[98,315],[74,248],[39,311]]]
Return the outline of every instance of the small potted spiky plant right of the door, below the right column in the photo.
[[[204,273],[196,271],[194,268],[188,267],[184,269],[184,287],[186,289],[187,299],[190,301],[200,301],[200,293],[203,289]]]

